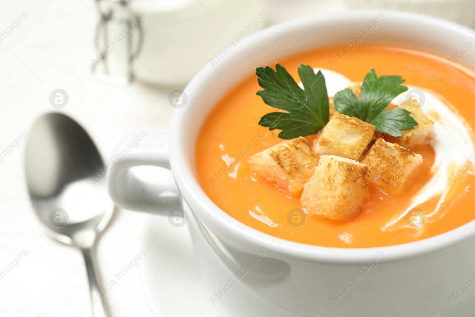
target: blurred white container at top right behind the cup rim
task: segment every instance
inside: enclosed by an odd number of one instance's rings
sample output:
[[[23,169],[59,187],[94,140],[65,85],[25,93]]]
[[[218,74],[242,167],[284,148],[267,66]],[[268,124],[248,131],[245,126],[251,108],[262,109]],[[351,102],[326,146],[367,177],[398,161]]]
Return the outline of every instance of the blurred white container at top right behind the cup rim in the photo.
[[[475,28],[474,0],[343,0],[346,9],[390,9],[417,12]]]

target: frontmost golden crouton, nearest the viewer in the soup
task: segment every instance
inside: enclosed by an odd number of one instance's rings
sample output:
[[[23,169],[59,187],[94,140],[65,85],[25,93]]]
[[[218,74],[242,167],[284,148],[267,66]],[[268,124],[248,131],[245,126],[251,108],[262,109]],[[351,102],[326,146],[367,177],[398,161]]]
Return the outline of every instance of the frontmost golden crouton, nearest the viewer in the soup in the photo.
[[[322,155],[300,201],[310,214],[348,221],[369,199],[368,166],[340,156]]]

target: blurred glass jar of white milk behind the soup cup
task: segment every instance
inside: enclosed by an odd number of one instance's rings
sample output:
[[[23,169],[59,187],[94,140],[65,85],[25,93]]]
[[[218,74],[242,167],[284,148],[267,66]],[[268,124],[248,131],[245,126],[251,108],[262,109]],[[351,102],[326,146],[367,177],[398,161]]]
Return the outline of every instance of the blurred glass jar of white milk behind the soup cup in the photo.
[[[266,26],[263,0],[132,0],[129,8],[146,14],[133,66],[152,85],[185,86],[231,42]]]

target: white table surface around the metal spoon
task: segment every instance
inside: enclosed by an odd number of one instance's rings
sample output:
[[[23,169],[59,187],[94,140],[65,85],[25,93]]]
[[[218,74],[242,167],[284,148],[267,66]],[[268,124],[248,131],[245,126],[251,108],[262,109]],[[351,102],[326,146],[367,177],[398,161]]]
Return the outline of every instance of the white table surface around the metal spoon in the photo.
[[[52,111],[81,124],[80,118],[105,160],[124,135],[166,132],[173,110],[167,102],[171,89],[137,83],[112,86],[91,77],[97,19],[90,10],[95,12],[93,0],[0,1],[0,32],[22,12],[28,14],[0,43],[0,152]],[[62,109],[49,103],[57,88],[69,95]],[[19,267],[0,280],[0,316],[92,316],[82,254],[44,234],[31,208],[23,183],[26,141],[28,136],[0,162],[0,270],[22,250],[28,252]],[[135,211],[117,213],[98,244],[104,281],[142,249],[142,228],[149,217]],[[106,298],[114,317],[155,316],[145,304],[140,264]]]

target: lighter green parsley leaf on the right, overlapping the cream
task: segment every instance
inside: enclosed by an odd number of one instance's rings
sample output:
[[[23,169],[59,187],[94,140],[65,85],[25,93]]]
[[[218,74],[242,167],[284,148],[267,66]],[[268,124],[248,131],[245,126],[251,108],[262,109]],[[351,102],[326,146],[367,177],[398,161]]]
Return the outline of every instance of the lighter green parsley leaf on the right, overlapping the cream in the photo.
[[[408,87],[401,86],[404,81],[399,76],[378,77],[371,68],[361,86],[360,99],[350,89],[345,88],[333,97],[335,110],[376,126],[376,131],[401,136],[401,130],[414,129],[418,125],[417,121],[407,110],[386,110],[386,107],[392,99],[408,90]]]

